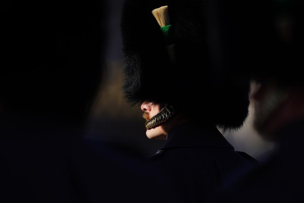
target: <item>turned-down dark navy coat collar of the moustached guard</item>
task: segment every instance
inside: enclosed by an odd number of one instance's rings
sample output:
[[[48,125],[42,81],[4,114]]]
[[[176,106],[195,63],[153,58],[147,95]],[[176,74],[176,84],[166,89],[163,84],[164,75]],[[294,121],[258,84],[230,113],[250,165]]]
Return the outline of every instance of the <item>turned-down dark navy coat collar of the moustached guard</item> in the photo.
[[[193,122],[180,124],[169,132],[161,150],[173,147],[226,147],[234,149],[215,125],[200,125]]]

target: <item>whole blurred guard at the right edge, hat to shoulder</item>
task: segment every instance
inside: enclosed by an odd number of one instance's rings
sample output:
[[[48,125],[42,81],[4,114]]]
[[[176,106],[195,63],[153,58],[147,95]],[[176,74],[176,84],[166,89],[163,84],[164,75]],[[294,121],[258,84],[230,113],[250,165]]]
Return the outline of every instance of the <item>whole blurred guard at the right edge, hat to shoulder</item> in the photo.
[[[276,148],[257,170],[226,191],[222,202],[303,201],[302,10],[300,1],[265,1],[254,11],[259,11],[260,18],[252,25],[263,30],[254,47],[260,50],[254,56],[255,65],[259,64],[254,70],[258,85],[252,94],[254,128]]]

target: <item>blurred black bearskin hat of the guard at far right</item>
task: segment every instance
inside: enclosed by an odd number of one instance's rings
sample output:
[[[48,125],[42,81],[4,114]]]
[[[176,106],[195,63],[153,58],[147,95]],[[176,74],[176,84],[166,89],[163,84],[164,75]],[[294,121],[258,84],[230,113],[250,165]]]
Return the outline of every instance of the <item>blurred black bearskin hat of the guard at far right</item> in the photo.
[[[304,3],[300,0],[267,0],[259,9],[253,26],[263,32],[255,36],[252,47],[255,80],[261,83],[273,80],[282,86],[304,85],[303,9]]]

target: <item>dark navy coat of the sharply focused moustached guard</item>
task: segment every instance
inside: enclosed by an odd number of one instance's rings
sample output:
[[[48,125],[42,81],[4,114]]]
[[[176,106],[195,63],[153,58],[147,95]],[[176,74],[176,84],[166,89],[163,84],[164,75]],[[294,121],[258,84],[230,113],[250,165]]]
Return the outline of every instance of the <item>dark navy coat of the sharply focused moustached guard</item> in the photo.
[[[150,158],[166,202],[216,202],[219,193],[256,166],[234,150],[214,125],[184,123],[173,128]]]

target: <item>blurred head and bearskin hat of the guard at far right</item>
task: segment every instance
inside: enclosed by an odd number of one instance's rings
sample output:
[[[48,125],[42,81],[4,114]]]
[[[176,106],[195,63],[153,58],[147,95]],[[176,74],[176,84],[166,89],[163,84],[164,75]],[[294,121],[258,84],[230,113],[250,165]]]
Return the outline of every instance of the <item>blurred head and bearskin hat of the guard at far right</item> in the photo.
[[[303,14],[297,1],[268,4],[259,21],[267,34],[255,48],[263,46],[255,56],[254,128],[266,140],[278,140],[283,128],[304,118]]]

